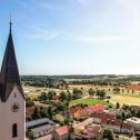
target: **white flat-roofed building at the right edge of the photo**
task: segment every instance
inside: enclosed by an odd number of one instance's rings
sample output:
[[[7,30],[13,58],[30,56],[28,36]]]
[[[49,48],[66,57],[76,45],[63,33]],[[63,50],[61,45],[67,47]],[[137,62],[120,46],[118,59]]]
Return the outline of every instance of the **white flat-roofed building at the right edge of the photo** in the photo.
[[[129,124],[131,124],[134,129],[140,130],[140,119],[132,117],[126,120]]]

